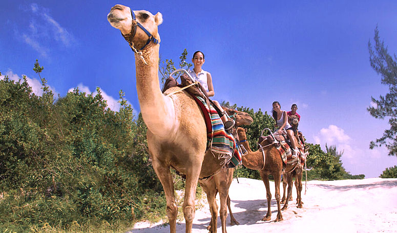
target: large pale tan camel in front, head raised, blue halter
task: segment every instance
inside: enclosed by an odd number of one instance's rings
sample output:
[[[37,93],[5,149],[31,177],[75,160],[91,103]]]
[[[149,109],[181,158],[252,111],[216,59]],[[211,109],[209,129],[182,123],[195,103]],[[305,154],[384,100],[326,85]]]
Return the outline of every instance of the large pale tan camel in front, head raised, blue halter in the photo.
[[[170,171],[172,167],[186,175],[182,209],[185,232],[191,233],[198,180],[218,174],[224,166],[224,158],[210,150],[206,152],[204,115],[192,96],[185,91],[166,96],[180,90],[178,87],[170,88],[164,94],[160,90],[158,26],[163,21],[162,14],[158,12],[153,15],[149,11],[133,11],[129,7],[115,5],[108,14],[108,21],[121,31],[135,53],[138,100],[143,121],[148,127],[147,141],[152,165],[165,193],[170,232],[176,232],[178,211]],[[226,203],[227,195],[220,195],[221,203]],[[223,208],[221,204],[221,212]],[[216,227],[213,232],[216,232]],[[225,233],[226,229],[222,228],[222,232]]]

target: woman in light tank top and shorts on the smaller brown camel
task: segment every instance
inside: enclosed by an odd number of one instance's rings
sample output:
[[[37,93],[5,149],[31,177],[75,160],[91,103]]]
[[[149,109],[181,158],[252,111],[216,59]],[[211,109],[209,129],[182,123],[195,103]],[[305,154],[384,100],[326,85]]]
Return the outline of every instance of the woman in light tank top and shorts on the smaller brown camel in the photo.
[[[281,135],[282,130],[285,129],[289,141],[291,142],[291,147],[293,149],[292,158],[296,158],[297,153],[299,153],[299,151],[294,138],[294,130],[292,129],[291,125],[288,123],[287,120],[288,119],[287,112],[281,110],[281,105],[278,101],[274,101],[272,105],[273,105],[273,118],[276,120],[275,126],[278,129],[277,133]]]

